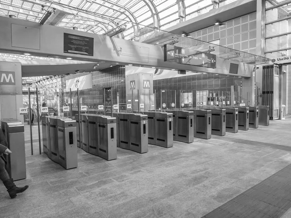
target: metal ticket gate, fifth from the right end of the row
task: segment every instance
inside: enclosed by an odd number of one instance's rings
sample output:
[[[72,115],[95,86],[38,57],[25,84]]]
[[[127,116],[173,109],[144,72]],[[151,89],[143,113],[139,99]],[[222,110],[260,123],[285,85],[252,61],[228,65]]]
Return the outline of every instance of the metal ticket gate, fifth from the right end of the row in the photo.
[[[226,135],[226,109],[211,110],[211,134],[217,136]]]

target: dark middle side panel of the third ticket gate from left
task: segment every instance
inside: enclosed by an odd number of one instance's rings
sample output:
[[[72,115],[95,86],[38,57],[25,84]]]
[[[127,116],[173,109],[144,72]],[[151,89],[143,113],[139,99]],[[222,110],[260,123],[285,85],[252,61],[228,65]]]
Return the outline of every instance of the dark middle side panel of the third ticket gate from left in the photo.
[[[88,116],[88,151],[90,154],[98,156],[97,120],[97,114]]]

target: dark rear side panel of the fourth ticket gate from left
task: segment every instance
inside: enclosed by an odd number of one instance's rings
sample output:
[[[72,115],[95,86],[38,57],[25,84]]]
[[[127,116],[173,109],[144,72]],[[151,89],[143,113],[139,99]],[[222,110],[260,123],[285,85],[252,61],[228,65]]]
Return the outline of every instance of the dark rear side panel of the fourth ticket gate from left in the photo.
[[[130,130],[129,130],[130,113],[119,113],[119,145],[120,148],[130,149]]]

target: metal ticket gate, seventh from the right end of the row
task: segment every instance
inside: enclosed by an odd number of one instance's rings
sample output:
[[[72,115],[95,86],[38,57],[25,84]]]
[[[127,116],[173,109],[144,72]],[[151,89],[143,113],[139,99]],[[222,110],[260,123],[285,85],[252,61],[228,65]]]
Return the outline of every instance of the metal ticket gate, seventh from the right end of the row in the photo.
[[[194,112],[177,110],[177,141],[194,141]]]

